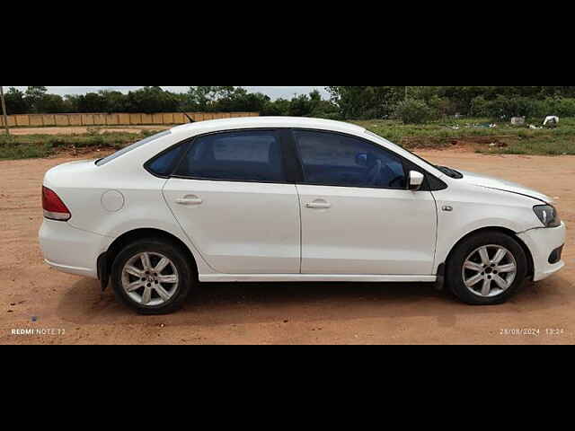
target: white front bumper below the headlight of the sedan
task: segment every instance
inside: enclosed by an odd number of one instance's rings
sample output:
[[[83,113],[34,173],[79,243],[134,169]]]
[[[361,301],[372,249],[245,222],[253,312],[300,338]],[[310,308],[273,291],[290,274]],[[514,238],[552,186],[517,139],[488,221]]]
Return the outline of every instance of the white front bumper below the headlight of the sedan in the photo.
[[[567,229],[564,223],[559,227],[532,229],[518,233],[517,236],[526,243],[531,251],[534,264],[533,281],[544,280],[565,266],[565,262],[562,260],[549,263],[553,251],[565,244]]]

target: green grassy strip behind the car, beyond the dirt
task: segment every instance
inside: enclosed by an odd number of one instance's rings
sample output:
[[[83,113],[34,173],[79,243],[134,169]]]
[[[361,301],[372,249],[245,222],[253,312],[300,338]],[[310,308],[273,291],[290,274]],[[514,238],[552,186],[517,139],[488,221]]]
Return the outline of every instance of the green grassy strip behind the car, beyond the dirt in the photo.
[[[408,149],[448,148],[469,145],[481,154],[575,155],[575,118],[561,119],[553,129],[530,129],[498,123],[489,128],[489,119],[451,119],[423,125],[405,125],[397,120],[352,121]],[[66,150],[119,149],[157,130],[100,133],[89,128],[82,135],[0,135],[0,160],[49,157]]]

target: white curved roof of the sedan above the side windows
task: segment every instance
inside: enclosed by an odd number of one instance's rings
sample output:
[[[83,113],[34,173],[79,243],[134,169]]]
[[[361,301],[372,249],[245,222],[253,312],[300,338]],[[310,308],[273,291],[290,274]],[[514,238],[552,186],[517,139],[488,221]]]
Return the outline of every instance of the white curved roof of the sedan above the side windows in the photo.
[[[233,114],[232,114],[233,115]],[[313,128],[352,134],[364,133],[365,128],[331,119],[308,119],[302,117],[243,117],[235,119],[212,119],[184,124],[172,129],[178,135],[195,136],[202,133],[242,128]]]

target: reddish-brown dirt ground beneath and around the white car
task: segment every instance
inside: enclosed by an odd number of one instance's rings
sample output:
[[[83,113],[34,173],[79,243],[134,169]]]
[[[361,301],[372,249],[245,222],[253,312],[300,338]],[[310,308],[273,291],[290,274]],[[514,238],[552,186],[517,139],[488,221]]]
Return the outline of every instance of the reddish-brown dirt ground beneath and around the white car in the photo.
[[[557,199],[568,225],[575,222],[575,157],[420,154],[540,189]],[[97,281],[42,263],[41,180],[66,160],[0,162],[0,344],[575,343],[573,230],[567,268],[495,307],[470,307],[425,284],[217,284],[202,286],[181,312],[138,316]]]

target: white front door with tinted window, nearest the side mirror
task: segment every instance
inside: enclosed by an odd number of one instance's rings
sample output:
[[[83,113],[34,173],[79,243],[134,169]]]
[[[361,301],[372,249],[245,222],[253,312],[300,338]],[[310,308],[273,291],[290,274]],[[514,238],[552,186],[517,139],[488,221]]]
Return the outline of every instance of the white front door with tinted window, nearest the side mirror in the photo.
[[[430,275],[437,210],[403,159],[356,136],[294,130],[304,181],[302,274]]]

